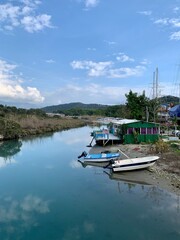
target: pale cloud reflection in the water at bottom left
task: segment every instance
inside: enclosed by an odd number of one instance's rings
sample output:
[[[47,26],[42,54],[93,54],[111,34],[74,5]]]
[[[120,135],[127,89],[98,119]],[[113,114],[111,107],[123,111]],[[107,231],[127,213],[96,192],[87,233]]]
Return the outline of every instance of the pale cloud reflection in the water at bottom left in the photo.
[[[0,233],[9,236],[14,233],[22,234],[38,226],[39,214],[44,215],[49,212],[49,202],[38,196],[30,194],[22,200],[12,197],[0,198],[0,224],[2,225]]]

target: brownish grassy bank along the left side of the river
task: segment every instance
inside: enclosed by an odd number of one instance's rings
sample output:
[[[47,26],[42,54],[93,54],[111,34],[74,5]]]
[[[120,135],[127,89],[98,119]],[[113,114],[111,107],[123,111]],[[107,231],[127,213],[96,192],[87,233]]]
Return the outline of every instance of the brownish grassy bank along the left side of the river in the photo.
[[[8,114],[0,118],[0,138],[1,140],[16,139],[84,125],[86,125],[85,121],[75,118]]]

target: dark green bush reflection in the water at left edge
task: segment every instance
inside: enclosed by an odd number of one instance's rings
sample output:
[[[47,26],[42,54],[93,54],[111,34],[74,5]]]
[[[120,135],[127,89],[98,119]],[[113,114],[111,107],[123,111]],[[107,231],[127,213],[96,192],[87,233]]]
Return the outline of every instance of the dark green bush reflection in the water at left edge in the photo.
[[[0,157],[11,158],[21,150],[22,142],[20,140],[9,140],[0,143]]]

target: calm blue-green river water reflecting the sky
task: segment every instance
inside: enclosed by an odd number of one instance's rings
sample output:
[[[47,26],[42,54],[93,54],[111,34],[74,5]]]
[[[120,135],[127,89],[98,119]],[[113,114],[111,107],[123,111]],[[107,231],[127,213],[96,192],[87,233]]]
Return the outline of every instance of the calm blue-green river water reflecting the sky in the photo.
[[[83,168],[84,127],[0,145],[0,239],[180,239],[180,199]]]

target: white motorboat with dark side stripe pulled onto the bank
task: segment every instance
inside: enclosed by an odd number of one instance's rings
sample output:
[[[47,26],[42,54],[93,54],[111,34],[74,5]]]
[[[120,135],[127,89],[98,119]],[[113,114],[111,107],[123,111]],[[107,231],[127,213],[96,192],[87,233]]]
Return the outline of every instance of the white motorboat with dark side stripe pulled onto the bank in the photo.
[[[151,167],[158,159],[158,156],[128,158],[115,160],[111,166],[113,172],[132,171]]]

